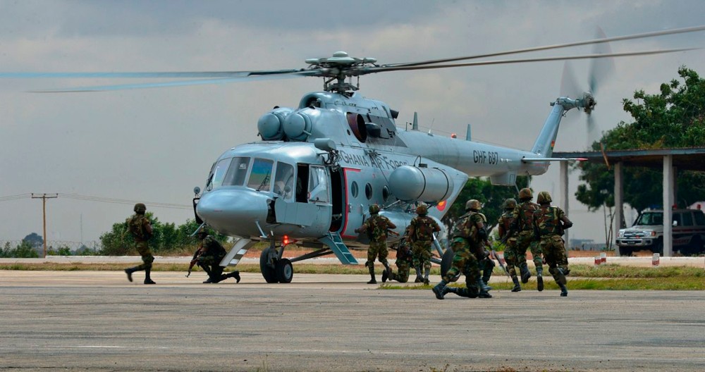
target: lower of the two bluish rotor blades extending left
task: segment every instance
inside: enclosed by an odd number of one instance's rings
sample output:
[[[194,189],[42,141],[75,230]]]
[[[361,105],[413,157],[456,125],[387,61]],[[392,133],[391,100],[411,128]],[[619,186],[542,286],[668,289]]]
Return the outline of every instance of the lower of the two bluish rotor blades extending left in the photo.
[[[309,71],[301,71],[298,73],[287,73],[281,75],[252,75],[245,77],[220,77],[216,79],[203,80],[180,80],[172,82],[146,82],[139,84],[121,84],[121,85],[97,85],[90,87],[68,87],[56,89],[40,89],[32,90],[32,93],[76,93],[76,92],[105,92],[110,90],[127,90],[127,89],[148,89],[162,87],[183,87],[189,85],[208,85],[208,84],[225,84],[228,82],[247,82],[253,80],[275,80],[275,79],[292,79],[294,77],[306,77]]]

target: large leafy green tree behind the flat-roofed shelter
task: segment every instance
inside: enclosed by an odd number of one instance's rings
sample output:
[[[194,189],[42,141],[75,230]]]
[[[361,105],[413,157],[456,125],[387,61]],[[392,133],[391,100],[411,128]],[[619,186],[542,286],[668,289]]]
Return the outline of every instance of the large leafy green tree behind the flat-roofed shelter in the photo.
[[[606,149],[661,149],[663,147],[694,147],[705,143],[705,80],[694,70],[678,69],[681,80],[661,84],[658,94],[638,90],[634,100],[624,99],[623,106],[634,119],[620,122],[604,133],[600,142]],[[594,142],[592,149],[600,150]],[[582,162],[576,197],[595,211],[614,206],[614,178],[604,164]],[[628,167],[624,170],[624,199],[638,211],[660,206],[663,196],[661,168]],[[705,173],[679,171],[676,177],[679,206],[687,206],[705,196]]]

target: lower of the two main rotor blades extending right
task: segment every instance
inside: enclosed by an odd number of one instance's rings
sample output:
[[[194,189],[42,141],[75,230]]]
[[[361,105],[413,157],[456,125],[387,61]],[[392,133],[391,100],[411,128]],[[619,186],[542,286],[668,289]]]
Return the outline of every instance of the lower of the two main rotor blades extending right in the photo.
[[[661,51],[630,51],[625,53],[613,54],[584,54],[580,56],[556,56],[542,58],[524,58],[524,59],[501,59],[496,61],[477,61],[468,63],[453,63],[448,65],[435,66],[396,66],[396,67],[369,67],[363,68],[359,75],[368,73],[381,73],[386,71],[403,71],[403,70],[431,70],[434,68],[451,68],[451,67],[469,67],[469,66],[488,66],[488,65],[508,65],[512,63],[527,63],[527,62],[542,62],[542,61],[570,61],[574,59],[590,59],[590,58],[607,58],[607,57],[627,57],[627,56],[648,56],[651,54],[666,54],[675,53],[677,51],[692,51],[702,48],[683,48],[683,49],[664,49]]]

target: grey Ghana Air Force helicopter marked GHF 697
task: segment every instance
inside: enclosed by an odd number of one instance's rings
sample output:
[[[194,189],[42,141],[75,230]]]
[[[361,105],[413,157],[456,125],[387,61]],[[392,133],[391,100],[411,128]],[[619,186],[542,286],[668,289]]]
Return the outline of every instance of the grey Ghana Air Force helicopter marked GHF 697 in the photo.
[[[404,228],[416,216],[417,206],[428,207],[428,215],[439,225],[441,218],[462,191],[469,177],[489,177],[494,185],[515,185],[517,175],[541,175],[553,161],[553,146],[565,113],[577,109],[587,115],[594,110],[594,89],[575,97],[551,101],[551,111],[531,149],[519,150],[435,135],[419,130],[417,115],[411,128],[396,120],[399,113],[383,101],[360,92],[360,76],[400,70],[460,68],[492,64],[613,58],[671,53],[691,49],[634,51],[541,58],[482,60],[529,51],[603,44],[627,39],[655,37],[705,30],[705,26],[648,32],[622,37],[591,39],[455,58],[412,63],[378,64],[376,58],[358,58],[345,51],[330,57],[309,58],[307,68],[288,70],[186,72],[186,73],[20,73],[0,77],[161,77],[176,82],[105,85],[49,89],[41,92],[94,92],[240,82],[295,77],[324,80],[320,92],[305,94],[295,107],[274,106],[257,121],[261,140],[238,144],[212,164],[203,190],[195,187],[192,205],[198,223],[235,238],[221,266],[236,266],[247,251],[261,241],[269,247],[260,254],[260,270],[267,283],[290,283],[293,263],[334,254],[343,264],[357,264],[350,249],[367,242],[355,233],[369,206]],[[357,78],[357,83],[353,79]],[[198,79],[198,80],[185,80]],[[289,244],[313,248],[295,258],[283,256]],[[448,264],[438,240],[435,263]]]

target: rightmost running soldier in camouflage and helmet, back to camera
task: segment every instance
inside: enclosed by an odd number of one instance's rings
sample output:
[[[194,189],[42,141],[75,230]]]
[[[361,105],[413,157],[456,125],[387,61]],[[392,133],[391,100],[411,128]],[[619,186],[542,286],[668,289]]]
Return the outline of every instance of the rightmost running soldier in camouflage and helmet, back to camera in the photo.
[[[557,206],[551,205],[551,194],[546,191],[539,192],[537,202],[541,208],[534,212],[534,233],[541,240],[541,249],[548,264],[548,272],[553,275],[560,287],[560,296],[568,296],[565,287],[565,275],[568,269],[568,254],[565,253],[563,230],[570,228],[572,222],[565,216],[565,212]]]

